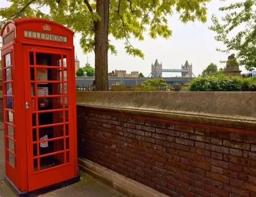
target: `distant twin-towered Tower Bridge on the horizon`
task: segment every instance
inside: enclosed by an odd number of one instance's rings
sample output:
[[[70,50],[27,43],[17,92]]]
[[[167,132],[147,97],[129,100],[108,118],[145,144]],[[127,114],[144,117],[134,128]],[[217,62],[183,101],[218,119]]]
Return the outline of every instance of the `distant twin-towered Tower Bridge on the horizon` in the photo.
[[[155,60],[155,63],[151,64],[151,73],[148,77],[151,78],[162,77],[162,73],[181,73],[182,77],[192,78],[195,75],[192,73],[192,64],[189,64],[188,61],[185,64],[181,65],[181,69],[163,69],[162,63],[159,63],[158,60]]]

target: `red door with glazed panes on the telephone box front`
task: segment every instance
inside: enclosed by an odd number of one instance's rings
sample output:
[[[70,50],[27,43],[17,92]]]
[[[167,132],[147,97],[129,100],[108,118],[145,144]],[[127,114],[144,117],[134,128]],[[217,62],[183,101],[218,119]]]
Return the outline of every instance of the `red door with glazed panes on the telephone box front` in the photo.
[[[74,177],[71,50],[23,46],[29,191]]]

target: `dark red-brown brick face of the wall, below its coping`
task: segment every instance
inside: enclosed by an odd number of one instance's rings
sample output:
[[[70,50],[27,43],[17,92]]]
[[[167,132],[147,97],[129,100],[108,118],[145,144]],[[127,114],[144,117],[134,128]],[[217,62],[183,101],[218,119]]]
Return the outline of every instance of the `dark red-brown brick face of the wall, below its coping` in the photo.
[[[171,197],[256,197],[256,134],[77,107],[79,155]]]

